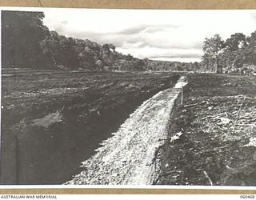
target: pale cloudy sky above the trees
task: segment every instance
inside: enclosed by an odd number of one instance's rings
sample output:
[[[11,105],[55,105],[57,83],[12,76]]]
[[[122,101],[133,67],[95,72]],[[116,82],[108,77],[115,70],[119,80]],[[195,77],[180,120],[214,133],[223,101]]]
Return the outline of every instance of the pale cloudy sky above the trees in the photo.
[[[256,10],[43,10],[50,30],[68,37],[112,43],[137,58],[195,62],[204,38],[256,30]]]

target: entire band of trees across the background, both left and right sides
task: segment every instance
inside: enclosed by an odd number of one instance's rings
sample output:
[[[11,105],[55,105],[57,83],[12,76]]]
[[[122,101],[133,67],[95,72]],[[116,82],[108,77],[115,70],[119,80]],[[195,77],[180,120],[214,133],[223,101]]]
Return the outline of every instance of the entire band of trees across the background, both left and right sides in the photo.
[[[203,42],[202,62],[166,62],[121,54],[112,44],[65,37],[43,25],[43,12],[2,11],[2,67],[86,70],[196,70],[252,73],[256,66],[256,31],[219,34]]]

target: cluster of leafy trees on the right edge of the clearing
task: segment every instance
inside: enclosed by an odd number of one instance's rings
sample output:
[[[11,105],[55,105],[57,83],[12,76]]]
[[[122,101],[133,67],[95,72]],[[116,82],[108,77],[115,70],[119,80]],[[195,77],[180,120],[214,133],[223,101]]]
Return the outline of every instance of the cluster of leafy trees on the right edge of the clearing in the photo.
[[[217,73],[251,74],[256,68],[256,31],[232,34],[223,40],[219,34],[206,38],[202,66]]]

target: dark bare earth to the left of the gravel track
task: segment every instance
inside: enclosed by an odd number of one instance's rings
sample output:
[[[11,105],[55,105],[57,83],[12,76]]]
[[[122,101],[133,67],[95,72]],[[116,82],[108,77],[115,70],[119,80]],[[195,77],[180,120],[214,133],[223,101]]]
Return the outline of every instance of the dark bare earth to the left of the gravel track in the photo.
[[[60,184],[171,73],[2,70],[2,184]]]

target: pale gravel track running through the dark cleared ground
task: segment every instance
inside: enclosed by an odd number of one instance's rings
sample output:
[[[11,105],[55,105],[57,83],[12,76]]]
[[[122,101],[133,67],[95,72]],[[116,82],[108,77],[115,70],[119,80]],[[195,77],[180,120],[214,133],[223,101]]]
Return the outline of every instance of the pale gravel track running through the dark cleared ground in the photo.
[[[143,102],[130,118],[102,142],[97,154],[82,162],[84,170],[65,184],[150,185],[155,178],[155,150],[167,137],[167,123],[183,78]]]

